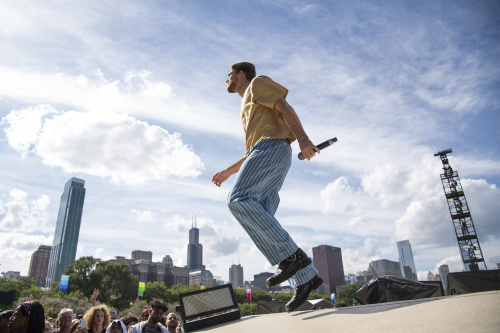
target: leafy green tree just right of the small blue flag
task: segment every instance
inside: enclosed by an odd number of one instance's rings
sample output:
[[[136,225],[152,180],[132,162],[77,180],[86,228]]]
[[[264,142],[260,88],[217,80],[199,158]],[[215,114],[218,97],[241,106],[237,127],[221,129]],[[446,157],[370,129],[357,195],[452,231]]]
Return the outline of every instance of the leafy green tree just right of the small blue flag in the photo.
[[[92,297],[92,292],[96,286],[91,281],[92,273],[97,268],[97,265],[102,262],[99,258],[81,257],[75,260],[71,265],[67,266],[64,274],[69,276],[68,293],[81,291],[86,297]],[[97,287],[99,288],[99,287]]]

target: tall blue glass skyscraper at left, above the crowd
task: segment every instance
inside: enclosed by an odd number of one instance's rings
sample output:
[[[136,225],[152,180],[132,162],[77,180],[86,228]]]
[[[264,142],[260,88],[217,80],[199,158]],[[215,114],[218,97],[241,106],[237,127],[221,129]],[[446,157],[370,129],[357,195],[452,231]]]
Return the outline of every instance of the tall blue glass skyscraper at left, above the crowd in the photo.
[[[46,287],[50,287],[52,282],[59,282],[66,267],[75,261],[85,200],[84,186],[85,181],[75,177],[68,180],[64,186],[57,215],[54,243],[50,252]]]

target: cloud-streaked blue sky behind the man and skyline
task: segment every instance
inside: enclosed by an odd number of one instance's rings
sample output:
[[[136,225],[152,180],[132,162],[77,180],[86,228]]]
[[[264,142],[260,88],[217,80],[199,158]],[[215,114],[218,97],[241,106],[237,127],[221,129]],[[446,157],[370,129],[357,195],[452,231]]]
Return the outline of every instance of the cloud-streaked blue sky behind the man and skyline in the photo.
[[[459,172],[489,268],[500,262],[500,5],[495,1],[2,1],[0,264],[27,274],[52,245],[64,184],[87,195],[77,256],[150,250],[228,280],[272,271],[230,215],[214,173],[244,153],[229,66],[289,89],[314,142],[294,159],[277,217],[345,273],[397,260],[421,278],[461,259],[433,154]],[[298,145],[292,145],[295,153]],[[424,275],[425,274],[425,275]]]

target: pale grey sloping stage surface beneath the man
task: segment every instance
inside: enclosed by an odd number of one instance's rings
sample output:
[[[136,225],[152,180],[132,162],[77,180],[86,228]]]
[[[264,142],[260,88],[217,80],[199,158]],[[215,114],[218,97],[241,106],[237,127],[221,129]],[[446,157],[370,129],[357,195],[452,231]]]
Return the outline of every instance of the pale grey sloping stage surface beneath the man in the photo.
[[[247,316],[197,332],[500,332],[500,291]]]

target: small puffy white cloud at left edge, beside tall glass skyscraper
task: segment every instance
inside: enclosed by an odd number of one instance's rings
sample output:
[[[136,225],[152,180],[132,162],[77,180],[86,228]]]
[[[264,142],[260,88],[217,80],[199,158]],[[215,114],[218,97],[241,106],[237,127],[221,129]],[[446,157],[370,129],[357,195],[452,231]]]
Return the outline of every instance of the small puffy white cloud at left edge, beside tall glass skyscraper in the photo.
[[[28,193],[12,189],[9,192],[10,199],[0,206],[0,229],[6,231],[16,230],[18,232],[47,232],[49,214],[47,207],[50,199],[42,195],[38,199],[27,200]]]

